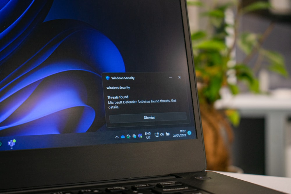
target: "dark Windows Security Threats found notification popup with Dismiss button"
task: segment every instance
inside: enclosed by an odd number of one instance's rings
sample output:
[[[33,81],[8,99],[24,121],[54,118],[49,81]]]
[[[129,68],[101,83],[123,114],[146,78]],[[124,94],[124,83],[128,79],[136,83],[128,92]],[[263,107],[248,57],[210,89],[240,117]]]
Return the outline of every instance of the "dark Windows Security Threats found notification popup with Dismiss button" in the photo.
[[[107,127],[189,123],[182,72],[102,73]]]

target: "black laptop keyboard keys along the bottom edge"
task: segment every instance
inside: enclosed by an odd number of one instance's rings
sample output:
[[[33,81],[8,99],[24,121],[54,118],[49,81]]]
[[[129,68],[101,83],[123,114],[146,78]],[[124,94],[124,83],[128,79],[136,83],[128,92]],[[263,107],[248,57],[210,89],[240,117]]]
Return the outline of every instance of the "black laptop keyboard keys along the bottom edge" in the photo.
[[[162,182],[105,188],[84,188],[79,191],[52,192],[51,194],[209,194],[180,182]]]

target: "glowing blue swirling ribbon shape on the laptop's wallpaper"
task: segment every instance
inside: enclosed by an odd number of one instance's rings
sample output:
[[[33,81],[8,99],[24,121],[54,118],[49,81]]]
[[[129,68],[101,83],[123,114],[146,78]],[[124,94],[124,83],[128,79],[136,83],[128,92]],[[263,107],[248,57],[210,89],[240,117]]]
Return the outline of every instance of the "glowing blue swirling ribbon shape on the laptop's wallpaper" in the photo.
[[[85,22],[45,21],[52,3],[0,1],[0,136],[105,124],[101,73],[125,72],[120,51]]]

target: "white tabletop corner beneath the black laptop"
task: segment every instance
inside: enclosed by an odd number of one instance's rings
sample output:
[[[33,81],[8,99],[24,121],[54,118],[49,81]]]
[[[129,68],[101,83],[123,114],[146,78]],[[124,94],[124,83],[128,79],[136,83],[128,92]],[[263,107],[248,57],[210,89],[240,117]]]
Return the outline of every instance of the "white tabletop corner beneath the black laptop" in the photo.
[[[218,172],[218,173],[291,194],[291,178],[240,174],[232,172]]]

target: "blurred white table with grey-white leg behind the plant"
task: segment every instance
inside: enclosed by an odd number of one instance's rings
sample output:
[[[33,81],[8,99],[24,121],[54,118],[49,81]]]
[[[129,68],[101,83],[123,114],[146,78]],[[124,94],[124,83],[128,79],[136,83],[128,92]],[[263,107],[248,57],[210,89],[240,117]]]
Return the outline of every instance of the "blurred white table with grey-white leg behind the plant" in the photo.
[[[228,96],[215,103],[217,109],[234,108],[242,116],[265,118],[266,174],[286,176],[286,122],[291,116],[291,94],[285,95],[240,94]],[[282,93],[282,92],[281,92]],[[281,94],[280,93],[280,94]],[[254,129],[255,130],[255,129]],[[291,186],[290,186],[291,187]]]

